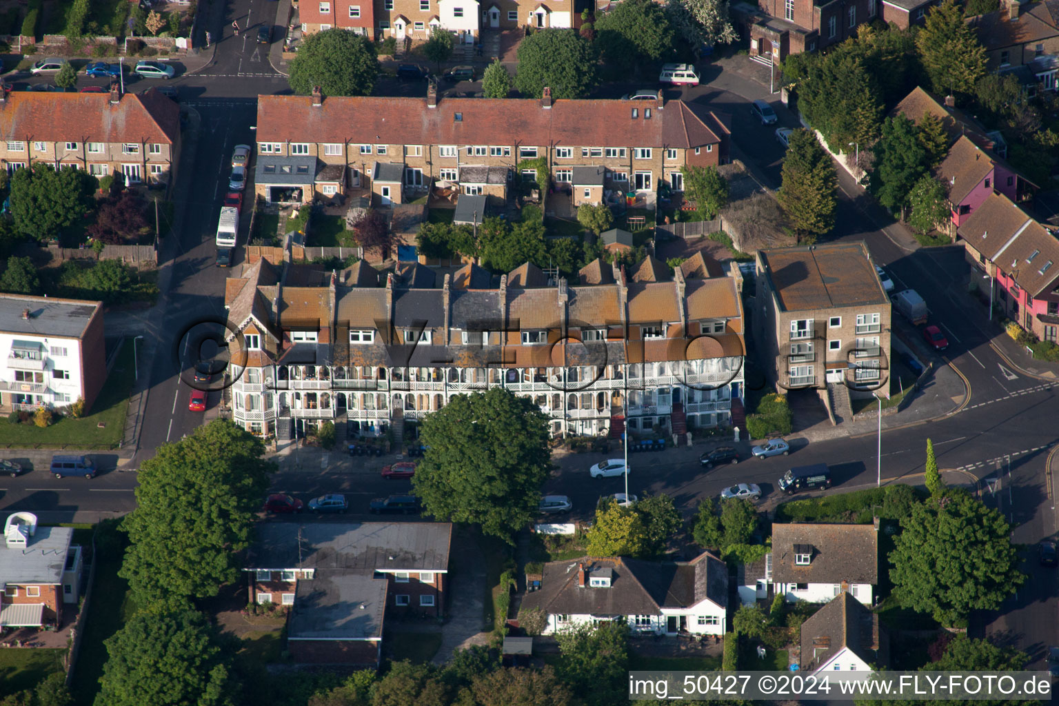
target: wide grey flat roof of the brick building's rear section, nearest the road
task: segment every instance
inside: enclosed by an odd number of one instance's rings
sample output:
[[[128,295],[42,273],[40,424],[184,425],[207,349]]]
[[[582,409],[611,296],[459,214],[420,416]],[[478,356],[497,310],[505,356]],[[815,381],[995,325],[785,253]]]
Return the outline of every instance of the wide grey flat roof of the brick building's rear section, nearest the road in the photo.
[[[244,571],[446,572],[451,537],[447,522],[265,522]]]

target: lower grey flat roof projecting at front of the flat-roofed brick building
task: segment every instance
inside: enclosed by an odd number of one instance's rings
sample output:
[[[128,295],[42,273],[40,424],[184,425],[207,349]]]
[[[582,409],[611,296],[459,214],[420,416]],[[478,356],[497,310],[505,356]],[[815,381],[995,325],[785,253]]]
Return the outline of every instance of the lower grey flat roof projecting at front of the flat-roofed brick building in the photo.
[[[320,572],[299,581],[287,639],[382,639],[387,579]]]

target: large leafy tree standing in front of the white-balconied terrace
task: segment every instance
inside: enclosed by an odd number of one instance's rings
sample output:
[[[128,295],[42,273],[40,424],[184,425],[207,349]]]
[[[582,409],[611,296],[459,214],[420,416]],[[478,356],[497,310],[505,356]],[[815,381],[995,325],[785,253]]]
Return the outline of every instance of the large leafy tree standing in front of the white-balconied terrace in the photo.
[[[500,387],[456,395],[424,420],[423,442],[412,486],[430,514],[508,541],[536,517],[552,461],[533,400]]]

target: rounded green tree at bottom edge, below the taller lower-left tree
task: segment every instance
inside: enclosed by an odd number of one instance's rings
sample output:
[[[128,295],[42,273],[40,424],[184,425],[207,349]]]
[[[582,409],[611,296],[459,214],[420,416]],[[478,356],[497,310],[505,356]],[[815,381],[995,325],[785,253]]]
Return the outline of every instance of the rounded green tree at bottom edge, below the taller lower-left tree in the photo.
[[[201,613],[141,611],[105,642],[96,706],[235,706],[230,652]]]

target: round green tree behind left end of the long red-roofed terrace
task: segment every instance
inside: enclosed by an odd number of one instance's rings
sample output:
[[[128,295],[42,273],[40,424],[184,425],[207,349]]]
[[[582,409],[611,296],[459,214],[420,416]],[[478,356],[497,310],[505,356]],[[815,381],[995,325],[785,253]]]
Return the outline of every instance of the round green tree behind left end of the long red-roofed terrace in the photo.
[[[371,95],[379,74],[375,43],[348,30],[324,30],[302,40],[290,62],[290,88],[308,95],[319,86],[324,95]]]

